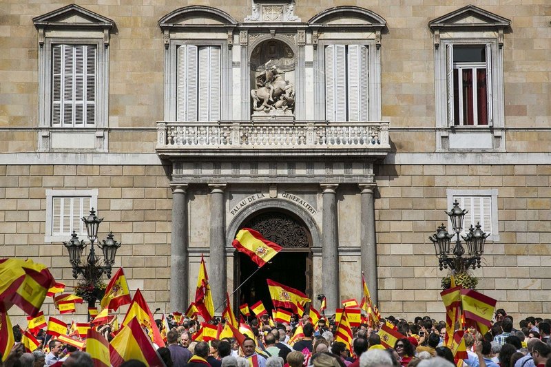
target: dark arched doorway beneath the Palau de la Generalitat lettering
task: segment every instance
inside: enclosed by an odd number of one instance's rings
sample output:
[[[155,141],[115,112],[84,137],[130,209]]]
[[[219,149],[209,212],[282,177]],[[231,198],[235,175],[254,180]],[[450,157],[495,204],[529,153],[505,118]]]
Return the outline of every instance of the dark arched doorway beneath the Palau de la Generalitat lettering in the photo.
[[[283,247],[282,251],[262,266],[262,269],[247,278],[258,269],[258,265],[244,253],[236,253],[236,286],[238,304],[249,306],[262,300],[268,311],[273,308],[268,291],[267,278],[312,294],[312,238],[306,224],[294,213],[284,209],[264,209],[251,214],[240,225],[262,233],[264,238]]]

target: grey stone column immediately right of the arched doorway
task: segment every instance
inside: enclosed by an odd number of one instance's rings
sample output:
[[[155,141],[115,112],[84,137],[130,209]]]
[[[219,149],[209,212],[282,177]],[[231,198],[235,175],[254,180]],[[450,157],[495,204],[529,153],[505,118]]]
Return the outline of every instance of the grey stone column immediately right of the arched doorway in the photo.
[[[327,298],[327,313],[335,313],[340,304],[339,292],[339,236],[337,228],[337,184],[322,184],[322,284]]]

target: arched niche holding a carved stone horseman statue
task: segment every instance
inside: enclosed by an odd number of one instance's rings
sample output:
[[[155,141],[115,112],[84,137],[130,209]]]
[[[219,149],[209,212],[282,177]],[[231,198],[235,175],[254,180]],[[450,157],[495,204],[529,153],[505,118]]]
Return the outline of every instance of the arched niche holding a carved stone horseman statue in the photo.
[[[286,43],[270,39],[251,54],[253,120],[293,120],[295,54]]]

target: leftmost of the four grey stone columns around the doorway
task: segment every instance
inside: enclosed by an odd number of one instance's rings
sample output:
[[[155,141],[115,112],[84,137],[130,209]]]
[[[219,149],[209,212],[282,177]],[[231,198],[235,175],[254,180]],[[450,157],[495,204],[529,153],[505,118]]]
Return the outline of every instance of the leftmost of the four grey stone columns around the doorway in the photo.
[[[187,309],[187,185],[172,187],[172,233],[170,240],[170,311]]]

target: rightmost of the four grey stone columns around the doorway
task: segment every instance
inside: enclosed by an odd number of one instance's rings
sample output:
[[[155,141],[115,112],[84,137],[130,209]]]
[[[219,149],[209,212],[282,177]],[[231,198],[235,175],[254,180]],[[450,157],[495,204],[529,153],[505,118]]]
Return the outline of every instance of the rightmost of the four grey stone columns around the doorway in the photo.
[[[360,229],[362,272],[366,278],[371,300],[377,304],[377,242],[375,239],[375,205],[373,201],[375,184],[360,184],[358,186],[362,190]]]

